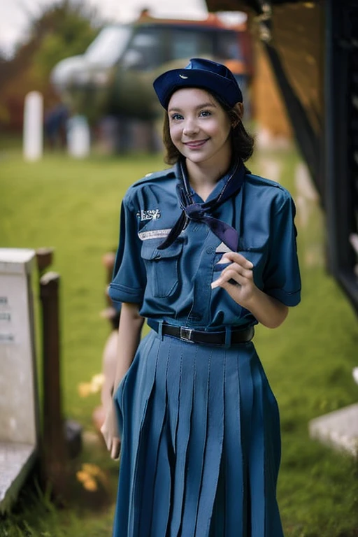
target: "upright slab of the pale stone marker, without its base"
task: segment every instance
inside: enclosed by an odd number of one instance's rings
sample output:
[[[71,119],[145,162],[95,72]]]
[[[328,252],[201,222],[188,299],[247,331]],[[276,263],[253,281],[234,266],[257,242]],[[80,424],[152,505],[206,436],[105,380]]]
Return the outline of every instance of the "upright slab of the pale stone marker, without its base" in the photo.
[[[38,434],[34,259],[34,250],[0,248],[0,442],[35,444]]]

